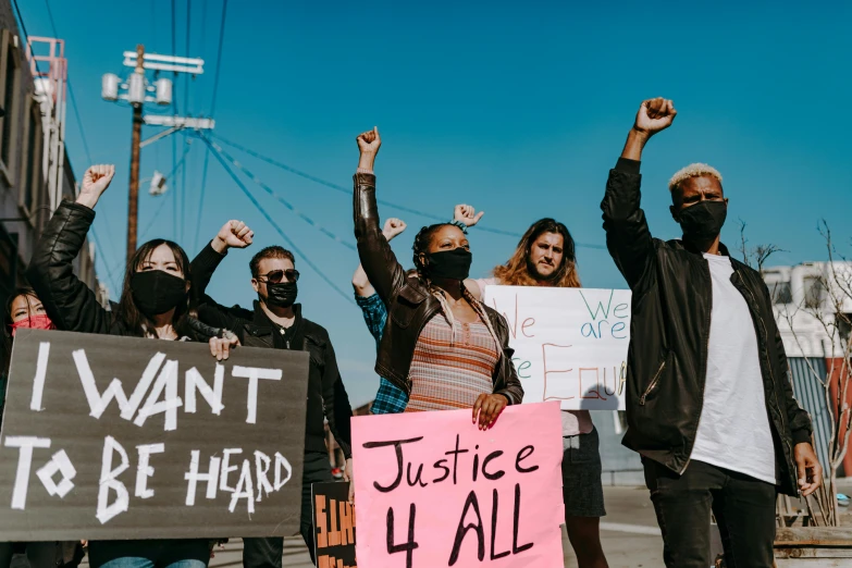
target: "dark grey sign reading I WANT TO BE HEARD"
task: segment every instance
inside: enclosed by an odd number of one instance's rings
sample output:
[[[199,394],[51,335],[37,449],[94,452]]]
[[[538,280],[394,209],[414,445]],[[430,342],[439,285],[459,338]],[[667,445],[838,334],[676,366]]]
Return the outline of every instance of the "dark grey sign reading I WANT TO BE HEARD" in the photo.
[[[298,531],[308,354],[18,330],[0,432],[7,541]]]

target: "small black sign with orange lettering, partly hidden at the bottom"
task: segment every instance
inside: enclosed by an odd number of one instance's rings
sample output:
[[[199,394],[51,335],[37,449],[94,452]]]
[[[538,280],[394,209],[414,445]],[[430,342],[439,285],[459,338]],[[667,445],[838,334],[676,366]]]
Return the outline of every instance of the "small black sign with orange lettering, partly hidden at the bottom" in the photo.
[[[349,505],[349,484],[313,483],[311,503],[317,568],[357,568],[355,509]]]

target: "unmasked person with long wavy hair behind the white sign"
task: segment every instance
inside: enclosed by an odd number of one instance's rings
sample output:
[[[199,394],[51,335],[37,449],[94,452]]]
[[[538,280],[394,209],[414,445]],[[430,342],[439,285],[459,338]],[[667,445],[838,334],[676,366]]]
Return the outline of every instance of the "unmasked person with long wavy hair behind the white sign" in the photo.
[[[482,217],[472,207],[461,212],[470,226]],[[465,215],[466,214],[466,215]],[[459,213],[456,215],[459,218]],[[465,287],[482,298],[489,285],[579,288],[575,242],[565,224],[553,219],[534,222],[505,264],[490,279],[467,280]],[[606,568],[601,546],[601,517],[606,515],[597,430],[589,410],[564,410],[563,501],[568,540],[579,568]]]

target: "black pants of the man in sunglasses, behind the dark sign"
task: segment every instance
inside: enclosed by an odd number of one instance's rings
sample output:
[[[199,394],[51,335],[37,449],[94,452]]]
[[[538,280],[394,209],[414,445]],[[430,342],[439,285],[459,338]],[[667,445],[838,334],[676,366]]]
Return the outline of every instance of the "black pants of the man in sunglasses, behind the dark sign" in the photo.
[[[310,486],[312,483],[331,481],[331,464],[325,453],[311,452],[305,454],[305,470],[301,474],[301,522],[299,532],[310,551],[310,559],[317,564],[313,556],[313,507]],[[243,539],[244,568],[281,568],[281,557],[284,555],[284,539],[281,536]]]

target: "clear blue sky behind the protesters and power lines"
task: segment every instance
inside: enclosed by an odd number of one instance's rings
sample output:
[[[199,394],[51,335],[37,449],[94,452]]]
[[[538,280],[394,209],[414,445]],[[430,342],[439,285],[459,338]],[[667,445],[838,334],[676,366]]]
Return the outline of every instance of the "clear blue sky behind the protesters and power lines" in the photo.
[[[53,35],[45,0],[18,3],[29,34]],[[172,4],[49,3],[66,42],[91,159],[116,164],[95,222],[103,245],[99,275],[115,298],[126,238],[131,110],[101,100],[100,77],[126,74],[122,52],[136,44],[172,52]],[[175,10],[176,54],[206,61],[202,76],[178,79],[175,99],[182,114],[208,115],[222,2],[192,0],[188,53],[187,0],[175,0]],[[679,115],[645,152],[643,207],[652,232],[678,236],[666,182],[682,165],[704,161],[725,176],[726,240],[739,238],[742,219],[752,244],[785,249],[775,263],[822,260],[820,219],[841,250],[852,248],[850,21],[852,4],[839,1],[805,9],[791,2],[231,0],[215,133],[349,187],[355,136],[378,125],[384,140],[376,166],[381,198],[447,217],[454,203],[471,203],[485,210],[483,225],[516,233],[555,217],[578,242],[603,245],[607,170],[640,101],[664,96],[675,100]],[[88,157],[71,109],[69,116],[67,149],[79,177]],[[146,127],[144,136],[156,132]],[[173,138],[180,161],[187,139]],[[349,197],[229,151],[307,217],[354,242]],[[140,232],[150,226],[144,238],[175,238],[192,256],[197,226],[200,245],[237,218],[256,230],[255,249],[281,243],[212,157],[199,215],[203,160],[202,144],[192,141],[185,185],[178,172],[165,196],[144,188]],[[143,150],[141,177],[172,168],[172,138]],[[355,252],[246,183],[297,246],[348,292]],[[410,263],[413,233],[429,220],[388,208],[381,213],[409,224],[394,248]],[[470,239],[476,275],[505,261],[517,242],[477,230]],[[210,287],[220,301],[250,304],[249,258],[249,251],[235,251],[225,259]],[[578,260],[585,286],[625,287],[605,250],[581,247]],[[298,258],[297,266],[305,313],[329,329],[353,402],[371,399],[374,346],[359,310]]]

